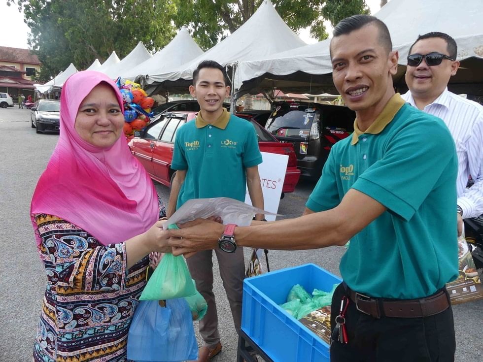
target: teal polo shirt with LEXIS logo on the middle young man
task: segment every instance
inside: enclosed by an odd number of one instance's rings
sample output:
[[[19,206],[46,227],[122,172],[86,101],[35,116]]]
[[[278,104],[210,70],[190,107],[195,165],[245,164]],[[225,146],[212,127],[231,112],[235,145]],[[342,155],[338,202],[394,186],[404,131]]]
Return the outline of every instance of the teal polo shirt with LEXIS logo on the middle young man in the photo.
[[[177,208],[192,198],[245,200],[246,168],[262,163],[253,125],[226,109],[209,124],[201,116],[181,126],[174,141],[171,168],[187,170]],[[455,206],[456,207],[456,206]]]

